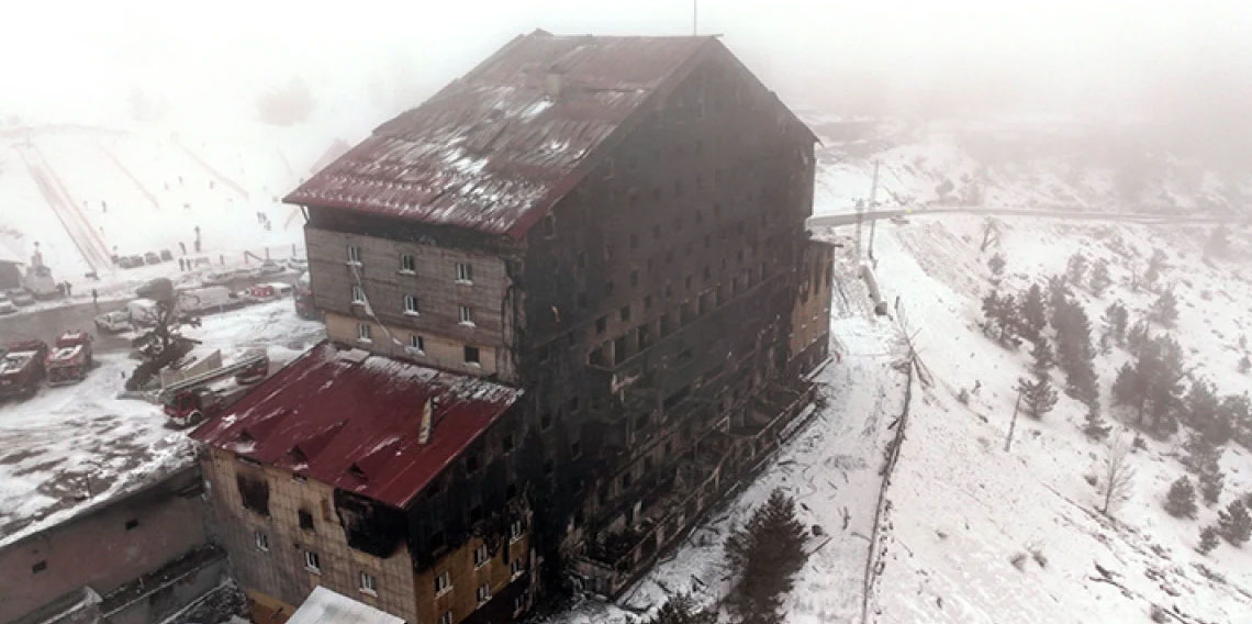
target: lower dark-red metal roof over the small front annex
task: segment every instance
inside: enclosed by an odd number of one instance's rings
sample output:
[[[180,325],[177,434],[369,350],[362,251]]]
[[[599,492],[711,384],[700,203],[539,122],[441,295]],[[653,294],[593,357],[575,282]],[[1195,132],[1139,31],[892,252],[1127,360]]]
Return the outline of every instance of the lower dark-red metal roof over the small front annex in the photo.
[[[520,395],[323,342],[192,437],[404,507]],[[422,412],[431,397],[433,426],[422,444]]]

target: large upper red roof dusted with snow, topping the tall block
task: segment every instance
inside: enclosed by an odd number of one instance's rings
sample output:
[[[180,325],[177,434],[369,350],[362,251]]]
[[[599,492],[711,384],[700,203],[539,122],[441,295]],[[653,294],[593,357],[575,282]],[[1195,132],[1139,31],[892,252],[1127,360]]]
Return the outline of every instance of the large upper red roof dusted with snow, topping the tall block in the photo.
[[[518,36],[284,202],[521,237],[577,184],[595,149],[710,41]]]

